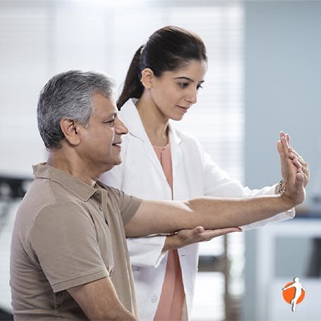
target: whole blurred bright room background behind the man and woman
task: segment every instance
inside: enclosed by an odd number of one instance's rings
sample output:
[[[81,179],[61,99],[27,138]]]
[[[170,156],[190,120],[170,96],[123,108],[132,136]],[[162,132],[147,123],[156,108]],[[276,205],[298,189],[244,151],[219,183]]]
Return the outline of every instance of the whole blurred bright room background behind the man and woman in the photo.
[[[164,25],[199,34],[209,69],[197,104],[176,123],[250,188],[280,181],[280,130],[311,171],[294,220],[202,244],[192,321],[320,320],[321,1],[0,0],[0,320],[12,320],[11,230],[46,159],[39,91],[70,69],[122,86],[137,48]],[[240,235],[241,234],[241,235]],[[282,287],[300,277],[296,313]]]

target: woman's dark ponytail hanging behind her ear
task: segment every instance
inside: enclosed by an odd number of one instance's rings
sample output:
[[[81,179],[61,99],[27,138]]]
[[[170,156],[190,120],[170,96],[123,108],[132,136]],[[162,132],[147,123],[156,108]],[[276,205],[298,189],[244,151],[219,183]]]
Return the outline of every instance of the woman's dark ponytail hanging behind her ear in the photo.
[[[129,98],[140,98],[144,91],[144,86],[140,82],[140,51],[143,46],[138,48],[135,55],[133,56],[133,60],[131,60],[131,65],[129,66],[129,70],[126,74],[126,79],[124,82],[124,87],[122,89],[122,93],[120,94],[117,100],[117,108],[120,110],[122,105],[126,103]]]

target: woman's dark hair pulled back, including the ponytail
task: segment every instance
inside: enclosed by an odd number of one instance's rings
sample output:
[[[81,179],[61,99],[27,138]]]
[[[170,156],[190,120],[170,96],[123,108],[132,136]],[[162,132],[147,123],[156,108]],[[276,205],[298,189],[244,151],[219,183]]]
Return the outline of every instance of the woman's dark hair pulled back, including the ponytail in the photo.
[[[197,34],[180,27],[167,26],[155,31],[131,60],[122,93],[117,101],[120,110],[129,98],[140,98],[144,91],[141,71],[150,68],[156,77],[178,70],[190,60],[207,61],[207,52]]]

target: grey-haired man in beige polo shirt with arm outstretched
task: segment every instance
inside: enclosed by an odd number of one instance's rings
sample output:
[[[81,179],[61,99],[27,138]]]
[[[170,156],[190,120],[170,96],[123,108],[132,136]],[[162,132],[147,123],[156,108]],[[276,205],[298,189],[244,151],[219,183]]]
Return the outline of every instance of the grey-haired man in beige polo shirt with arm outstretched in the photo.
[[[38,125],[49,154],[34,166],[13,230],[16,320],[138,320],[126,236],[197,225],[224,234],[303,202],[302,164],[284,134],[281,195],[158,202],[103,185],[100,175],[122,162],[127,133],[112,93],[112,79],[79,71],[56,75],[41,91]]]

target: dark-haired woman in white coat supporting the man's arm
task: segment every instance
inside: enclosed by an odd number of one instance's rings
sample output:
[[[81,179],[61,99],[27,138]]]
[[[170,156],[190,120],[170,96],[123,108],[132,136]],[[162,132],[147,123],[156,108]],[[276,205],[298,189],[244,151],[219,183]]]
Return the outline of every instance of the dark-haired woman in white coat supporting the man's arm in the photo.
[[[277,193],[277,185],[261,190],[242,187],[204,154],[195,138],[169,123],[183,119],[196,103],[206,71],[203,41],[188,30],[163,27],[138,48],[117,102],[129,127],[122,143],[123,162],[104,174],[105,183],[147,199]],[[299,155],[298,159],[307,183],[307,165]],[[291,210],[253,225],[293,216]],[[176,235],[127,239],[141,320],[188,320],[197,273],[196,242],[236,230],[197,227]]]

